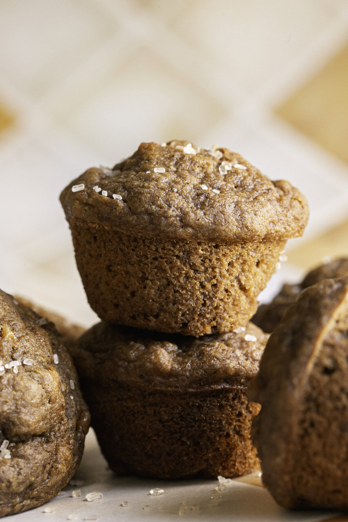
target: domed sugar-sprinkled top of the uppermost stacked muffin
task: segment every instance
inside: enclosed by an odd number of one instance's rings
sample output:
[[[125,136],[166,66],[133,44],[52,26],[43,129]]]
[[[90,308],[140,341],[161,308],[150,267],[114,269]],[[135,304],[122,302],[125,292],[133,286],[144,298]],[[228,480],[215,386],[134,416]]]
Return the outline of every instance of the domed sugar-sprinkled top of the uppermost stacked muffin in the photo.
[[[75,192],[76,191],[76,192]],[[226,148],[142,143],[112,170],[91,168],[61,194],[66,218],[174,240],[243,243],[302,235],[305,197]]]

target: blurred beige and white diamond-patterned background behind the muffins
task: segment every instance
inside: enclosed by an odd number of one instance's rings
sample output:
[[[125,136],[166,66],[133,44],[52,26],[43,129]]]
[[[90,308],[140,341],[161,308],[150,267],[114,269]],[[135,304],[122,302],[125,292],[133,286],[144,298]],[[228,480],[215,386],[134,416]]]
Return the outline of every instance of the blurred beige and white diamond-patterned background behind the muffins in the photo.
[[[306,194],[306,234],[264,298],[348,254],[348,2],[0,0],[0,287],[95,321],[59,192],[173,138]]]

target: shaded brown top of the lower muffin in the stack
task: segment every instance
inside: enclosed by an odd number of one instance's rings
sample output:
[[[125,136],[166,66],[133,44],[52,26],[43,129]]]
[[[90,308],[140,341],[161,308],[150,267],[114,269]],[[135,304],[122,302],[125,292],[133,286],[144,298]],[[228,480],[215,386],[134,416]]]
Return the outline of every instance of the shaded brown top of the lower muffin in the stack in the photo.
[[[81,378],[147,388],[245,387],[268,335],[252,323],[199,339],[98,323],[71,349]]]

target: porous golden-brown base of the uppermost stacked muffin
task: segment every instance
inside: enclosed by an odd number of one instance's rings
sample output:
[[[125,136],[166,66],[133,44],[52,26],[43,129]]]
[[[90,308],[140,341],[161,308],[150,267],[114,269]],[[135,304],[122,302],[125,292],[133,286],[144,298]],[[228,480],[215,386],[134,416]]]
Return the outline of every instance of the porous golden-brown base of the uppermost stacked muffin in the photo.
[[[102,321],[196,337],[245,325],[285,241],[212,244],[70,223],[88,302]]]

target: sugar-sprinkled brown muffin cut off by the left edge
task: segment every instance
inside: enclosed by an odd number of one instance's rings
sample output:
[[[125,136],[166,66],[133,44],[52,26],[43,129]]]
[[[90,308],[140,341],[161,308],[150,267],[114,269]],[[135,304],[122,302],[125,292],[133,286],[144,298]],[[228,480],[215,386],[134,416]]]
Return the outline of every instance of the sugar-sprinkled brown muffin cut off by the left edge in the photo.
[[[47,502],[79,465],[90,416],[63,338],[0,291],[0,516]]]

